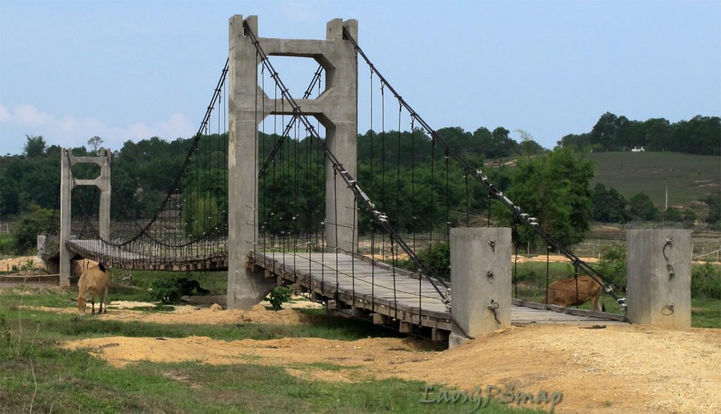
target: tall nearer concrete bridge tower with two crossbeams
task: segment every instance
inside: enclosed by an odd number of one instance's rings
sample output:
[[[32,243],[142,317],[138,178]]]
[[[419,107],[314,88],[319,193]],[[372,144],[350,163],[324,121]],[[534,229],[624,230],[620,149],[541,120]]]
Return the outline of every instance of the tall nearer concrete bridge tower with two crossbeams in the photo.
[[[265,115],[294,115],[286,100],[270,99],[259,86],[261,64],[243,23],[258,36],[257,17],[231,17],[229,22],[229,211],[228,211],[228,307],[247,309],[257,304],[274,280],[246,268],[248,253],[257,247],[257,133]],[[326,72],[326,89],[314,100],[293,97],[302,115],[314,116],[326,129],[330,151],[353,177],[357,174],[358,59],[353,45],[343,39],[343,28],[356,39],[355,20],[333,19],[327,24],[326,40],[273,39],[257,37],[267,56],[314,58]],[[353,251],[358,244],[353,193],[339,178],[334,180],[327,163],[325,232],[330,247]],[[335,183],[335,186],[334,186]],[[336,216],[337,213],[337,216]]]

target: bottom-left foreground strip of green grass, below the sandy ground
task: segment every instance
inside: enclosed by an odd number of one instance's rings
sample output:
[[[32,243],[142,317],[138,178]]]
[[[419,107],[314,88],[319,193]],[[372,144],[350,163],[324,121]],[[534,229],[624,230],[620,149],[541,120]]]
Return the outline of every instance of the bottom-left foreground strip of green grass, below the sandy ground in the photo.
[[[3,413],[31,406],[38,413],[447,413],[452,408],[420,403],[426,384],[417,381],[311,381],[255,364],[141,362],[118,369],[49,343],[0,358],[0,369]],[[534,412],[493,401],[486,410]]]

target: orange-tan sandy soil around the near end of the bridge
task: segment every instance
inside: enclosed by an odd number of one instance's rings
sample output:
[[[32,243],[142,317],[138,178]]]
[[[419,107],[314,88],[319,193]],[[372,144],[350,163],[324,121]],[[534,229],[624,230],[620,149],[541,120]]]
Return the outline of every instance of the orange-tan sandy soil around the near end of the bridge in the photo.
[[[72,310],[72,309],[71,309]],[[181,323],[306,323],[294,309],[280,312],[181,308],[173,314],[111,309],[102,319]],[[201,322],[202,321],[202,322]],[[355,341],[317,338],[239,340],[93,338],[65,343],[89,348],[114,366],[135,361],[286,366],[293,375],[353,382],[395,376],[472,389],[487,385],[536,393],[562,392],[557,412],[721,412],[721,330],[668,330],[642,325],[605,329],[535,325],[512,327],[454,350],[438,351],[413,338]],[[348,369],[299,369],[321,362]],[[422,397],[419,391],[419,400]]]

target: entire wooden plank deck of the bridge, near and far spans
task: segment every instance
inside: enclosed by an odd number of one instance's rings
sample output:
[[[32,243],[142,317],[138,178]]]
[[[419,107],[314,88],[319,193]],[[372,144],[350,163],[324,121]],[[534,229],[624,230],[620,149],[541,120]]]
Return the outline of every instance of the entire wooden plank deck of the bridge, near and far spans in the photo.
[[[224,270],[226,255],[215,257],[155,257],[127,252],[104,245],[99,240],[68,240],[66,246],[78,255],[106,263],[111,268],[138,270]],[[430,281],[419,279],[408,270],[346,253],[250,252],[247,265],[265,270],[267,277],[280,277],[309,291],[314,299],[324,300],[343,314],[368,318],[373,323],[394,327],[433,340],[445,340],[451,331],[451,314]],[[435,281],[441,293],[441,282]],[[552,307],[514,301],[511,323],[614,324],[624,323],[619,315]],[[534,309],[535,308],[535,309]]]

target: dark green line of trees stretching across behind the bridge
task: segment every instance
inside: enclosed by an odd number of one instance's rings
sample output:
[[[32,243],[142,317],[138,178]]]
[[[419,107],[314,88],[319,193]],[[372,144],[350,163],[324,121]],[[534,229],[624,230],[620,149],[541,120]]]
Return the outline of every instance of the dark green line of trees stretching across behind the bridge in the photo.
[[[604,123],[615,117],[607,115],[601,117]],[[696,118],[686,123],[686,130],[698,130],[696,122],[706,122]],[[614,131],[616,136],[623,135],[619,132],[623,128]],[[454,127],[437,132],[466,162],[482,167],[497,188],[536,216],[544,229],[565,245],[583,240],[592,221],[663,219],[691,224],[697,219],[692,211],[669,208],[660,213],[643,193],[626,200],[614,188],[604,185],[590,188],[593,163],[585,159],[583,151],[577,151],[580,146],[572,140],[547,150],[525,131],[518,131],[521,142],[510,138],[510,131],[505,128],[493,131],[477,128],[469,132]],[[607,138],[606,133],[602,136]],[[24,154],[0,157],[0,215],[4,219],[23,214],[37,216],[38,209],[58,206],[61,148],[48,146],[42,136],[26,138]],[[193,217],[209,217],[204,224],[190,224],[187,229],[190,234],[213,226],[228,203],[227,175],[220,172],[227,165],[227,136],[214,134],[201,139],[207,154],[205,158],[193,157],[198,168],[195,180],[181,182],[177,188],[177,207],[187,222],[195,223]],[[270,157],[278,141],[281,141],[278,135],[259,132],[258,170],[265,167],[259,188],[260,231],[318,232],[324,220],[322,203],[327,174],[322,151],[311,138],[288,138],[280,151]],[[102,138],[93,137],[87,146],[72,151],[75,156],[92,156],[101,145]],[[153,137],[137,143],[126,141],[120,149],[112,151],[111,218],[154,216],[192,146],[190,138],[164,141]],[[73,172],[76,177],[91,178],[97,176],[95,167],[79,164]],[[517,227],[510,212],[500,203],[492,202],[485,188],[422,130],[359,134],[358,182],[399,232],[443,233],[451,226],[479,225],[480,221],[488,220],[489,213],[494,224]],[[74,190],[74,216],[97,211],[96,198],[92,188]],[[709,195],[702,201],[707,203],[710,213],[700,219],[718,224],[721,197]],[[215,212],[209,211],[208,206],[215,207]],[[358,222],[360,232],[376,228],[363,208],[359,210]],[[541,242],[523,226],[518,226],[516,233],[521,242]]]

